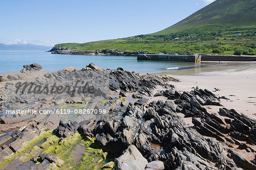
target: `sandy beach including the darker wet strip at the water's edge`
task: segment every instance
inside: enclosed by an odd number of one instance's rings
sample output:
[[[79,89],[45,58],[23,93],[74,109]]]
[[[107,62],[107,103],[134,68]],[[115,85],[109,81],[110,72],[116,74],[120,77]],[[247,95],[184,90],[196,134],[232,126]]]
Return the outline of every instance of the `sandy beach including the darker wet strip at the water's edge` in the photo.
[[[159,73],[158,73],[159,74]],[[180,82],[172,82],[180,92],[190,91],[199,86],[202,89],[215,91],[218,96],[225,96],[230,100],[221,99],[227,109],[235,109],[238,113],[256,119],[256,63],[212,63],[207,67],[162,72],[178,78]],[[219,89],[218,90],[215,90]],[[219,107],[210,107],[217,111]]]

